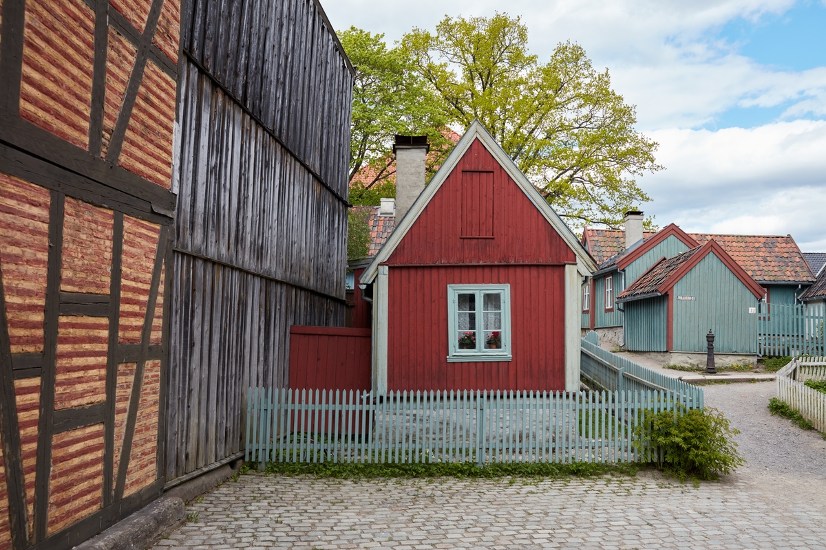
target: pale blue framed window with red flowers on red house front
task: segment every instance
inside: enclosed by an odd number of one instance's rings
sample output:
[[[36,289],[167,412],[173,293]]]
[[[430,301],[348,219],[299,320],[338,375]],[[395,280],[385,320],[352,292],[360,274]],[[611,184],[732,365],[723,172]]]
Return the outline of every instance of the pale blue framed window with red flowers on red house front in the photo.
[[[510,284],[448,285],[449,362],[510,361]]]

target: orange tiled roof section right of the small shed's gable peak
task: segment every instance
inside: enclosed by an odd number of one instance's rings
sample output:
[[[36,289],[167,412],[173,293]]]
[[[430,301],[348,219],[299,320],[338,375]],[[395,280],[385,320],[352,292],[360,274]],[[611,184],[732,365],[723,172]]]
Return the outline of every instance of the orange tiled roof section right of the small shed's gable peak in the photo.
[[[689,235],[700,244],[714,237],[720,247],[758,283],[814,282],[814,274],[791,235]]]

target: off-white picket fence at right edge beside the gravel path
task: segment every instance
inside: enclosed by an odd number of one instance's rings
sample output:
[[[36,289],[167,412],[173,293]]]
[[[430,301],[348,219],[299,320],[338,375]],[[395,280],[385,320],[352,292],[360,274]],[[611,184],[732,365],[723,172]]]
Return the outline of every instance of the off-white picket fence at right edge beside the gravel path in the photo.
[[[777,398],[800,412],[814,429],[826,432],[826,393],[806,380],[826,380],[826,357],[795,357],[777,372]]]

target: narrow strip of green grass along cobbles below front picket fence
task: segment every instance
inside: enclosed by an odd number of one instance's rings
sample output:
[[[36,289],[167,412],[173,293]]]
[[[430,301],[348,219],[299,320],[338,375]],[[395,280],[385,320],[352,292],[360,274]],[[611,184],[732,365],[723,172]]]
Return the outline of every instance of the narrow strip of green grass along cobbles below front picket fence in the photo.
[[[595,477],[634,476],[644,466],[638,463],[602,464],[491,463],[482,468],[474,463],[361,464],[361,463],[267,463],[268,474],[283,476],[333,477],[337,479],[392,477],[455,477],[491,479],[495,477]]]

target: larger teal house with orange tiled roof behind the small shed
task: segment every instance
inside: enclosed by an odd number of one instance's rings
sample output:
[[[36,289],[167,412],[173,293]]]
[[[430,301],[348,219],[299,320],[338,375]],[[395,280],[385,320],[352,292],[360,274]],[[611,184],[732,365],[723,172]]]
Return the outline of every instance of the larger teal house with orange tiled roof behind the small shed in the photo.
[[[711,239],[765,289],[764,301],[781,305],[799,303],[800,294],[814,282],[814,274],[790,235],[685,233],[673,223],[657,233],[640,231],[638,234],[643,234],[643,239],[630,243],[626,249],[622,231],[586,228],[583,233],[582,243],[598,265],[598,271],[582,290],[583,328],[601,331],[622,327],[627,340],[629,331],[637,327],[629,327],[623,311],[625,306],[614,303],[615,297],[657,261]],[[654,306],[647,304],[646,307]]]

